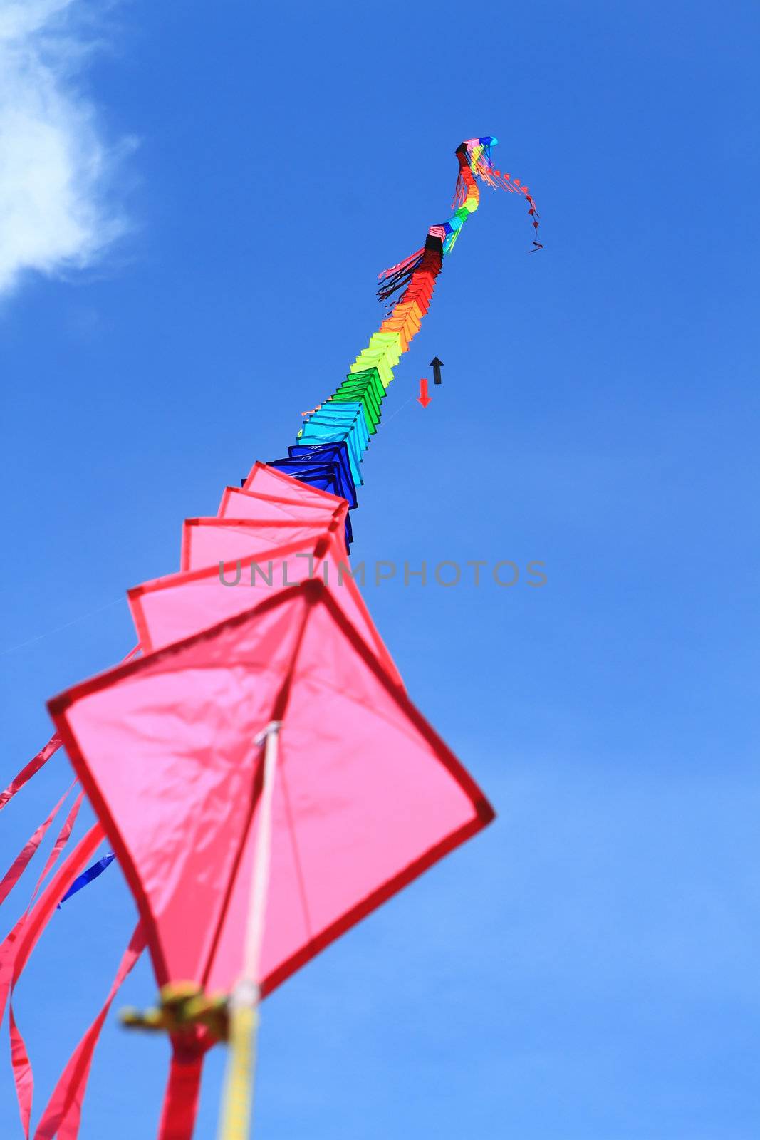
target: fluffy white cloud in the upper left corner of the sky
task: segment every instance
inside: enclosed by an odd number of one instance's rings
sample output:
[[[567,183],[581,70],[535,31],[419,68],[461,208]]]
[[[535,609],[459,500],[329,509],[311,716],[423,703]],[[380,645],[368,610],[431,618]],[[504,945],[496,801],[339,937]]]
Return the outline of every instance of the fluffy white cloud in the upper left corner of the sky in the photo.
[[[123,145],[103,140],[75,85],[84,14],[81,0],[0,0],[0,295],[25,271],[91,264],[125,229],[107,193]]]

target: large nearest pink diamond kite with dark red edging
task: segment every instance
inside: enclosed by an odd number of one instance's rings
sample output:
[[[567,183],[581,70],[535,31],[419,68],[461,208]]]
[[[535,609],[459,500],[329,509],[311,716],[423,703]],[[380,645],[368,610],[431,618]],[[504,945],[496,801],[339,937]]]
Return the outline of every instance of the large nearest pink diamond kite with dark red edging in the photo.
[[[234,593],[234,591],[229,591]],[[262,748],[283,722],[265,991],[492,811],[318,579],[50,702],[160,984],[240,974]]]

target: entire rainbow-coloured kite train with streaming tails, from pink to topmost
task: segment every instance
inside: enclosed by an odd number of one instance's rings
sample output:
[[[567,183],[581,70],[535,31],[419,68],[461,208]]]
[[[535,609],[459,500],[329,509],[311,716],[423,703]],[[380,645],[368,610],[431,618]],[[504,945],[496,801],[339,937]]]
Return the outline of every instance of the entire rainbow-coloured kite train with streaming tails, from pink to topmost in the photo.
[[[476,179],[521,194],[538,231],[528,187],[493,166],[495,142],[458,147],[455,213],[381,274],[382,301],[402,293],[345,381],[304,413],[286,457],[255,463],[214,518],[186,520],[180,571],[129,592],[136,649],[50,701],[56,735],[0,796],[3,807],[65,746],[76,780],[0,882],[2,902],[73,793],[0,946],[27,1140],[32,1067],[14,987],[57,905],[114,855],[139,922],[34,1140],[75,1140],[100,1028],[146,945],[161,1001],[124,1020],[171,1041],[158,1134],[191,1137],[203,1057],[228,1041],[220,1137],[242,1140],[260,999],[493,816],[406,694],[351,575],[349,512],[393,368],[477,209]],[[84,795],[97,823],[52,873]],[[90,864],[104,838],[113,853]]]

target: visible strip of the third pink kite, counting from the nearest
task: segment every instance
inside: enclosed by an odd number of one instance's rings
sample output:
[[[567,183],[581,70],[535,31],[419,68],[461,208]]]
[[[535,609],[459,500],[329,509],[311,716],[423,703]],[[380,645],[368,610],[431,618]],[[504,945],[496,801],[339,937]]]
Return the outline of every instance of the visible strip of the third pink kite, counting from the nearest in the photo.
[[[321,522],[302,523],[295,519],[186,519],[180,570],[218,567],[220,562],[255,556],[272,546],[293,543],[310,549],[325,529]]]

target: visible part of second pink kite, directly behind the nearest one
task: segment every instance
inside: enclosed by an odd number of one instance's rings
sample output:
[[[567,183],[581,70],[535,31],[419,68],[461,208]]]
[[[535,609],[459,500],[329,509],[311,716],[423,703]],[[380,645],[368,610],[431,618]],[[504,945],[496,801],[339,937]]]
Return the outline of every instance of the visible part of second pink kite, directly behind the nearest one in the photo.
[[[223,618],[253,609],[278,589],[314,576],[322,581],[327,579],[329,589],[340,596],[341,606],[358,632],[382,659],[395,683],[402,685],[365,601],[350,572],[346,572],[351,568],[343,549],[343,544],[338,544],[334,535],[325,534],[310,545],[291,543],[262,551],[255,556],[236,559],[226,563],[222,571],[216,564],[136,586],[130,589],[128,598],[142,652],[154,652],[207,629]],[[232,585],[235,581],[237,585]]]

